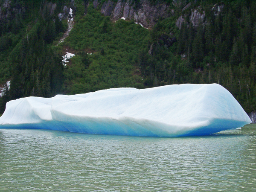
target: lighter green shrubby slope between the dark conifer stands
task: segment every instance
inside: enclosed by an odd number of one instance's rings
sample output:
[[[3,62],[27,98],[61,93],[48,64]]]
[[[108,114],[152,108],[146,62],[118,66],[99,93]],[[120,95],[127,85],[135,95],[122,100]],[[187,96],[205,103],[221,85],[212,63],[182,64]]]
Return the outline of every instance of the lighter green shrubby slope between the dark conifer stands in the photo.
[[[77,53],[64,71],[65,92],[143,88],[137,59],[140,52],[148,49],[148,41],[147,29],[132,21],[113,23],[89,6],[87,15],[76,23],[65,42]]]

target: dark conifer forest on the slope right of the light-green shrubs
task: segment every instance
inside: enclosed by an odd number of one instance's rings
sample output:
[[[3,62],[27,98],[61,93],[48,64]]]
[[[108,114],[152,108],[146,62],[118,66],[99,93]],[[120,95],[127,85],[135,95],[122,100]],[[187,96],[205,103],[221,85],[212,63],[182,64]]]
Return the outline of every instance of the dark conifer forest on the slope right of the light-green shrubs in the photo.
[[[214,6],[223,6],[223,9],[216,13]],[[192,7],[205,11],[206,17],[193,27],[189,19],[191,10],[186,10],[185,22],[177,34],[177,47],[167,51],[176,55],[161,61],[163,50],[154,52],[151,60],[159,57],[153,67],[155,79],[160,82],[156,85],[161,82],[219,83],[235,96],[245,111],[255,111],[256,1],[218,4],[201,1]],[[159,21],[155,30],[165,32],[169,20]],[[151,38],[153,42],[158,40]],[[163,76],[166,71],[169,75]]]

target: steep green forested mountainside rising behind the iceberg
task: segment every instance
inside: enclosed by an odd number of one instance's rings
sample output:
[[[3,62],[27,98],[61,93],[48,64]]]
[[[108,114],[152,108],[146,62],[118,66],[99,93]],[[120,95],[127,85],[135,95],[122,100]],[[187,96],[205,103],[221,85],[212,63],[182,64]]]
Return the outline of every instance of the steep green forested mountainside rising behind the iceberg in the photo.
[[[182,83],[221,84],[247,113],[256,111],[256,1],[0,2],[0,85],[11,81],[0,113],[25,96]],[[120,19],[125,11],[105,16],[109,2],[128,4],[139,19],[145,4],[166,13],[143,17],[146,28],[135,16]],[[58,44],[71,7],[74,27]],[[75,56],[64,66],[67,51]]]

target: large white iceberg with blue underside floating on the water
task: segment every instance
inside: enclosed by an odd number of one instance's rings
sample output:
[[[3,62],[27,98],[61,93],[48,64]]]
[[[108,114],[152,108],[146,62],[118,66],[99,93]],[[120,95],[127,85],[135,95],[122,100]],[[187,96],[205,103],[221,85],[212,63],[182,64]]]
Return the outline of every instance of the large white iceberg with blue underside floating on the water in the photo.
[[[41,128],[150,137],[207,135],[251,120],[219,84],[116,88],[10,101],[0,128]]]

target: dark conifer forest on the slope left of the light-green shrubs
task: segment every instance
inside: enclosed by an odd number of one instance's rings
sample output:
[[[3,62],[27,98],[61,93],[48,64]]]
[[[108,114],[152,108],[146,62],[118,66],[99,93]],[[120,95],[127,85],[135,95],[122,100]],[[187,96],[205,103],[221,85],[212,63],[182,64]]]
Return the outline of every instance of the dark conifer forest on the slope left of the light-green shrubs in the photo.
[[[11,79],[11,86],[0,99],[0,113],[11,99],[61,93],[63,81],[61,55],[51,44],[63,35],[65,25],[57,13],[49,15],[46,3],[31,0],[13,4],[26,12],[1,20],[0,83]]]

